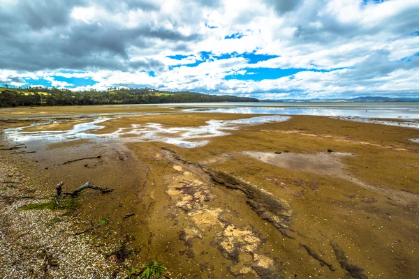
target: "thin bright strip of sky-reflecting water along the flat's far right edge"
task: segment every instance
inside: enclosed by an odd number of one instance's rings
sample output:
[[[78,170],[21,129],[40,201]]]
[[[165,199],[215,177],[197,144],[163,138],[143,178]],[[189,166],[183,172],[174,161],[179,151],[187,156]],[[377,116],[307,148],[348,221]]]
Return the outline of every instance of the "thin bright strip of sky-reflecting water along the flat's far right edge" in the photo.
[[[357,108],[357,107],[217,107],[189,109],[193,112],[235,114],[289,114],[312,116],[356,116],[362,118],[419,119],[419,107]]]

